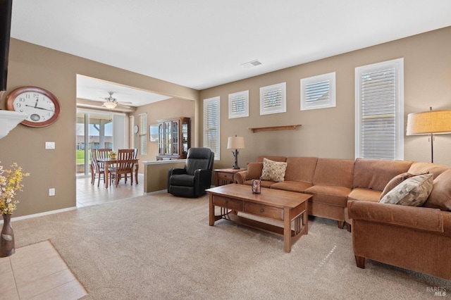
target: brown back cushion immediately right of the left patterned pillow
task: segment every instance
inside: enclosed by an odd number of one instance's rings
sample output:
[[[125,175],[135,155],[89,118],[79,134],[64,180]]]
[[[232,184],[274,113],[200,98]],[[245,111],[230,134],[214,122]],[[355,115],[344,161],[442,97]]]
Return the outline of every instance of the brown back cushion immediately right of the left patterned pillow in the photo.
[[[316,157],[288,157],[285,180],[312,183],[316,161]]]

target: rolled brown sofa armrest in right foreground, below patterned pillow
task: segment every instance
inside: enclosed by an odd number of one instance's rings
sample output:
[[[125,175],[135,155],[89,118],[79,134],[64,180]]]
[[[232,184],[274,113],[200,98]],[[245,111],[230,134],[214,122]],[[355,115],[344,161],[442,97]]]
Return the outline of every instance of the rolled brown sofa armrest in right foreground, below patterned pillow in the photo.
[[[451,213],[437,208],[348,201],[347,213],[354,221],[385,223],[416,230],[441,232],[451,236]]]

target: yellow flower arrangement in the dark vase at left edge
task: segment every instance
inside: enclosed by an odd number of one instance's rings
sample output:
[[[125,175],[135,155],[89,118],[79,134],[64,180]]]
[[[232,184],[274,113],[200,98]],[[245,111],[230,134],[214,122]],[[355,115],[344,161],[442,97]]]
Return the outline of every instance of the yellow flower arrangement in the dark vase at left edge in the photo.
[[[22,191],[23,177],[30,173],[23,173],[22,167],[17,163],[11,165],[11,169],[4,169],[0,165],[0,213],[2,215],[12,215],[16,211],[18,200],[13,200],[18,191]]]

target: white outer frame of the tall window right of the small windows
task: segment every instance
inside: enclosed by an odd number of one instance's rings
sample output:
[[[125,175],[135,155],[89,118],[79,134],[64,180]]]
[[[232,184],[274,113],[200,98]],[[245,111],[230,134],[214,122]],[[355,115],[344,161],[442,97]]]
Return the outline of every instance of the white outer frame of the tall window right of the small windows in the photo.
[[[404,58],[355,68],[355,158],[364,158],[362,149],[362,75],[364,73],[395,70],[395,160],[404,160]]]

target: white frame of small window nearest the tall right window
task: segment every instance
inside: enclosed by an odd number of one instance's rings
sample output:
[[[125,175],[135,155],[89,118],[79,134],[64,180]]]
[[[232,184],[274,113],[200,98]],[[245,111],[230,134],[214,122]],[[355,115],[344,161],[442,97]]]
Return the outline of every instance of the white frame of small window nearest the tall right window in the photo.
[[[307,86],[319,84],[321,82],[329,82],[328,85],[328,99],[307,101]],[[310,109],[330,108],[335,107],[335,72],[311,76],[301,79],[301,111],[308,111]]]

